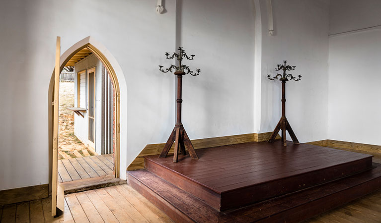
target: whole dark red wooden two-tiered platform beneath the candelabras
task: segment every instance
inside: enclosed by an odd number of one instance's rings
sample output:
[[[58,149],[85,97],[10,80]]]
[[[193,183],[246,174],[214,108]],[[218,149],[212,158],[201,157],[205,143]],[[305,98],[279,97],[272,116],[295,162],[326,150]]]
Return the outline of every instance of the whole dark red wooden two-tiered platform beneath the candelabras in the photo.
[[[299,222],[381,188],[372,156],[251,142],[145,157],[128,183],[176,222]]]

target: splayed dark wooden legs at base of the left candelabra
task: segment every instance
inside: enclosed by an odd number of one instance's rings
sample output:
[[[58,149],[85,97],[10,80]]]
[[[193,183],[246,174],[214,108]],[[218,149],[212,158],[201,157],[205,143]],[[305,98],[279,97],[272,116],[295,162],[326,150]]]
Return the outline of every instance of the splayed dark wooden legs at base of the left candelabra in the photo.
[[[163,150],[161,151],[159,158],[165,158],[172,147],[173,142],[175,143],[174,153],[173,153],[173,163],[177,163],[178,154],[186,155],[185,148],[188,149],[189,155],[192,159],[198,159],[196,151],[190,141],[188,134],[186,133],[183,126],[175,126],[172,133],[170,134]]]

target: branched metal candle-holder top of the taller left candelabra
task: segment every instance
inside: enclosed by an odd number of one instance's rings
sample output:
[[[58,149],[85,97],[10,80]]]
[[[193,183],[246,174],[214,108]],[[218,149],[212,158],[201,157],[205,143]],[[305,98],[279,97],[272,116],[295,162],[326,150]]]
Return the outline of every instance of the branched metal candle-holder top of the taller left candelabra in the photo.
[[[182,60],[183,60],[184,58],[185,58],[185,59],[188,59],[188,60],[192,60],[193,57],[194,57],[195,55],[188,56],[188,55],[185,53],[185,51],[183,50],[182,47],[179,47],[177,50],[179,51],[179,53],[178,53],[178,54],[173,53],[172,56],[169,56],[169,53],[168,53],[168,52],[165,52],[165,57],[166,57],[167,59],[173,59],[173,58],[176,57],[176,59],[177,59],[177,61],[178,61],[178,65],[176,66],[176,65],[171,64],[168,68],[165,68],[165,69],[163,69],[163,66],[159,65],[159,70],[160,70],[161,72],[163,72],[163,73],[166,73],[166,72],[168,72],[168,71],[172,72],[172,70],[174,70],[174,71],[177,72],[177,73],[183,73],[183,75],[185,75],[185,74],[187,74],[187,73],[189,73],[189,74],[192,75],[192,76],[197,76],[197,75],[199,75],[199,74],[200,74],[200,71],[201,71],[200,69],[196,69],[196,72],[194,72],[194,71],[192,71],[192,70],[189,68],[189,66],[187,66],[187,65],[183,65],[183,64],[182,64]]]

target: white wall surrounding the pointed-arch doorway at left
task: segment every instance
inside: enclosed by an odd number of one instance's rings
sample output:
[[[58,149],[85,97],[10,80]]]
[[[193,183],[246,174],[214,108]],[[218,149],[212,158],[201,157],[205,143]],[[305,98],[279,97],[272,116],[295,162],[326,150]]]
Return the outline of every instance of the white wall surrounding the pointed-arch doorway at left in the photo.
[[[48,87],[56,36],[61,36],[62,53],[92,36],[121,66],[129,90],[128,126],[121,128],[130,129],[122,137],[131,139],[121,148],[125,167],[146,144],[164,141],[173,127],[165,121],[174,116],[174,78],[159,73],[157,65],[167,62],[165,51],[174,50],[175,0],[165,1],[167,12],[161,15],[155,4],[1,2],[0,190],[48,183]]]

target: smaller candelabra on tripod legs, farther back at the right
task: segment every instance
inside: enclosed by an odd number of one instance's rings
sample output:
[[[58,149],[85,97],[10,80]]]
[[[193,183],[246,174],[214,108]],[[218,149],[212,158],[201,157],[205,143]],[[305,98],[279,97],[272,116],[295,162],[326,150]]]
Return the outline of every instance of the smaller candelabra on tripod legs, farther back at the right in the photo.
[[[283,146],[287,146],[287,143],[286,143],[286,130],[289,131],[290,136],[291,136],[291,138],[292,138],[292,140],[293,140],[293,142],[295,144],[299,144],[299,141],[298,141],[298,138],[295,135],[293,129],[291,128],[291,125],[290,125],[289,121],[286,118],[286,81],[289,81],[289,80],[299,81],[299,80],[301,80],[302,75],[298,75],[298,78],[296,78],[292,74],[286,74],[286,71],[295,70],[295,66],[286,65],[287,60],[285,60],[283,62],[284,62],[284,64],[282,64],[282,65],[278,64],[277,67],[275,68],[276,71],[283,70],[283,75],[279,74],[279,73],[277,73],[277,75],[274,76],[274,77],[271,77],[270,74],[267,75],[267,77],[270,80],[277,79],[277,80],[282,81],[282,100],[281,100],[282,101],[282,117],[279,120],[277,126],[275,127],[273,133],[271,134],[270,139],[268,140],[268,142],[270,142],[270,143],[274,142],[275,138],[278,135],[279,130],[282,130],[282,142],[283,142]]]

